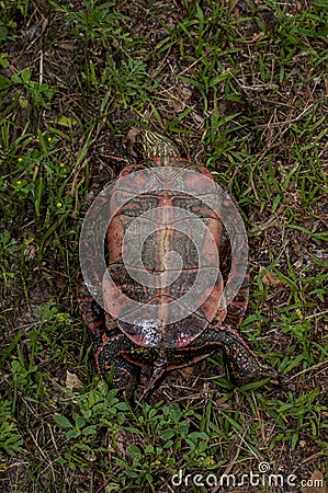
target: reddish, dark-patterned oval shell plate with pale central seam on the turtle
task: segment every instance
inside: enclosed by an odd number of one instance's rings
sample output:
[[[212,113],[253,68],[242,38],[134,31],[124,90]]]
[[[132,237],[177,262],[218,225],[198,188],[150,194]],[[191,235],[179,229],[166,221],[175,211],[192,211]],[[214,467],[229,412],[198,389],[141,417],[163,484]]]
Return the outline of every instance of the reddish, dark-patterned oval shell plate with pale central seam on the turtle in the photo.
[[[214,318],[224,320],[223,222],[205,168],[170,156],[128,165],[111,192],[110,208],[108,324],[113,319],[138,346],[179,348]]]

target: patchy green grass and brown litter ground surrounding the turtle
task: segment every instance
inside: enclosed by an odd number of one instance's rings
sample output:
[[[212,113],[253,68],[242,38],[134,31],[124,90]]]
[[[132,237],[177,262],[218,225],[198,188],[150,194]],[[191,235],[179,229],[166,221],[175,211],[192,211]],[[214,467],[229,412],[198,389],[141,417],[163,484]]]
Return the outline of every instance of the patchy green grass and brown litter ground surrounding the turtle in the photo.
[[[1,8],[3,491],[222,491],[222,474],[240,481],[268,462],[301,492],[328,466],[326,2]],[[251,267],[241,330],[286,388],[236,389],[217,355],[132,408],[90,365],[79,229],[117,172],[106,154],[148,127],[186,150],[202,142],[239,203]],[[286,491],[264,480],[251,491]]]

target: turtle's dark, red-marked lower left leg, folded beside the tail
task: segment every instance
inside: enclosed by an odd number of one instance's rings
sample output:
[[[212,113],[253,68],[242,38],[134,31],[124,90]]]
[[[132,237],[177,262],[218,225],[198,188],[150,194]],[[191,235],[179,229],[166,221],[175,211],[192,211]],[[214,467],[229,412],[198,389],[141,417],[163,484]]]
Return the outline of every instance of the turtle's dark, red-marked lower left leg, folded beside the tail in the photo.
[[[94,353],[101,378],[106,380],[113,372],[113,387],[124,390],[128,399],[133,398],[140,378],[140,368],[124,357],[132,349],[132,342],[117,330],[103,333],[97,343]]]

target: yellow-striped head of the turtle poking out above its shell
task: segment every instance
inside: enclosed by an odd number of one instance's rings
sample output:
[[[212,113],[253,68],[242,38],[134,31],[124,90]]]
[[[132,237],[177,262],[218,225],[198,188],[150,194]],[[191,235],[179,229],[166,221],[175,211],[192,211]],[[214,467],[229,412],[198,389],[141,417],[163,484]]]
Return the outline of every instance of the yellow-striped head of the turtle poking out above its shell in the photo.
[[[135,151],[140,158],[179,157],[181,151],[173,140],[150,130],[143,130],[136,137]]]

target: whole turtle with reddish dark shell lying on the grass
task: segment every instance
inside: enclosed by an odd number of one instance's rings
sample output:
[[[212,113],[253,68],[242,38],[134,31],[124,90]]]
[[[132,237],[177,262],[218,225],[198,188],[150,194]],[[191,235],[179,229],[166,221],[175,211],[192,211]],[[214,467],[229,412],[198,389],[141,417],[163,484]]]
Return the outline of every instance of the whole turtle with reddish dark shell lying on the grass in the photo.
[[[78,283],[78,305],[94,337],[94,359],[101,378],[111,377],[113,387],[132,397],[140,381],[142,368],[146,368],[148,381],[142,400],[170,370],[220,352],[234,385],[265,378],[280,382],[278,371],[260,362],[240,333],[248,305],[249,273],[238,261],[238,251],[247,246],[247,237],[241,234],[235,244],[237,260],[234,260],[227,231],[236,216],[236,200],[223,194],[219,206],[208,205],[204,198],[207,186],[214,198],[217,193],[213,174],[197,156],[183,153],[180,145],[169,137],[142,130],[134,150],[136,157],[108,157],[110,163],[122,170],[116,183],[121,180],[125,185],[123,188],[111,185],[108,194],[110,208],[104,214],[112,209],[114,213],[111,221],[105,221],[105,267],[97,299],[90,287],[92,253],[86,254],[90,237],[84,234],[81,240],[82,252],[90,259],[84,262]],[[162,179],[163,172],[169,176],[167,181]],[[150,184],[154,181],[161,182],[161,188]],[[125,198],[117,205],[120,195]],[[93,213],[92,221],[97,215]],[[233,219],[224,225],[223,215]],[[163,222],[159,216],[166,217]],[[136,221],[132,237],[124,243]],[[194,222],[195,230],[191,226]],[[136,240],[138,236],[143,236],[143,244]],[[193,240],[201,245],[199,250]],[[210,250],[214,256],[217,253],[218,264],[212,264]],[[180,260],[174,254],[168,256],[172,251]],[[207,259],[205,267],[203,264],[200,267],[200,257]],[[201,268],[202,280],[197,280],[197,289],[188,298],[195,306],[189,307],[184,296],[192,290]],[[176,271],[180,273],[178,278]],[[146,282],[149,276],[152,276],[150,284]],[[227,286],[235,286],[230,299],[225,295]],[[134,303],[144,311],[132,308]]]

